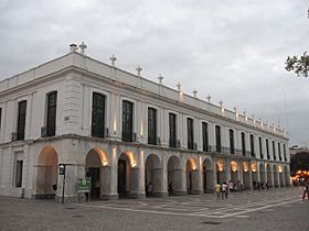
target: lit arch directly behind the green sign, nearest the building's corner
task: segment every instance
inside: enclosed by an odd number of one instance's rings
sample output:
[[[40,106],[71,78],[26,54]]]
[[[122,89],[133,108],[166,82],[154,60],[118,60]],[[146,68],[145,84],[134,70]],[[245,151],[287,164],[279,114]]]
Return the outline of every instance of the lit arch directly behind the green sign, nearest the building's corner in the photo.
[[[106,152],[99,147],[92,148],[86,156],[86,176],[90,177],[92,199],[104,198],[108,195],[109,172]]]

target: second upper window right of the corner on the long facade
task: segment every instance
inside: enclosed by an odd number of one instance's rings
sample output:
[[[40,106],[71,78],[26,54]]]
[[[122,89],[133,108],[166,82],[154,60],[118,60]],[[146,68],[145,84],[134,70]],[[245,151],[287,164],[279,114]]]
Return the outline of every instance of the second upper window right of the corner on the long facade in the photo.
[[[122,141],[132,142],[134,130],[134,103],[122,101]]]

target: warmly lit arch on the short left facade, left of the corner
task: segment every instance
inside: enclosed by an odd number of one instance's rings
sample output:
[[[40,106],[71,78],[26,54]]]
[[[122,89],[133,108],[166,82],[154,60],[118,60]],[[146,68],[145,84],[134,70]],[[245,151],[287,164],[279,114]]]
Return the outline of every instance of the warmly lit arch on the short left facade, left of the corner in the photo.
[[[55,197],[58,176],[58,155],[53,146],[44,146],[38,158],[35,198],[51,199]]]

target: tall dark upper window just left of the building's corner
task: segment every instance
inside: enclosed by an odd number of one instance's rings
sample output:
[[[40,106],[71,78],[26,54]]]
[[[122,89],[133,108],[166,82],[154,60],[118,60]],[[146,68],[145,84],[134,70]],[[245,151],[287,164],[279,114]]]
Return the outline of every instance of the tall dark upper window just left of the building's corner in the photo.
[[[57,91],[47,94],[46,135],[53,136],[56,132]]]

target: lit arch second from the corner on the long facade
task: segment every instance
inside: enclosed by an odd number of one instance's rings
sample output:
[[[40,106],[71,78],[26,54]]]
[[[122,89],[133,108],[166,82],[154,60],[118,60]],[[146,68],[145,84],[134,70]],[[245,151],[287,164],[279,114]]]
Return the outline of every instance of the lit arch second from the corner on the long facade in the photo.
[[[119,197],[138,197],[139,170],[132,152],[126,151],[118,157],[117,193]]]

